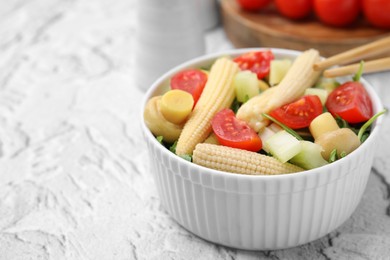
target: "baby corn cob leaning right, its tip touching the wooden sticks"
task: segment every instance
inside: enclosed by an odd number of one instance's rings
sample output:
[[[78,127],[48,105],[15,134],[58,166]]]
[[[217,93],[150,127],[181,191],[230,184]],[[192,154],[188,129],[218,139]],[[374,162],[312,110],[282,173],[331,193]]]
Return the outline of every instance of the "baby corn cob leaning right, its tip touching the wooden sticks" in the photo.
[[[237,111],[237,118],[246,121],[257,132],[261,130],[268,124],[262,113],[269,113],[275,108],[295,101],[303,95],[305,89],[316,82],[321,72],[314,71],[313,64],[319,59],[316,50],[303,52],[294,61],[279,85],[248,100]]]

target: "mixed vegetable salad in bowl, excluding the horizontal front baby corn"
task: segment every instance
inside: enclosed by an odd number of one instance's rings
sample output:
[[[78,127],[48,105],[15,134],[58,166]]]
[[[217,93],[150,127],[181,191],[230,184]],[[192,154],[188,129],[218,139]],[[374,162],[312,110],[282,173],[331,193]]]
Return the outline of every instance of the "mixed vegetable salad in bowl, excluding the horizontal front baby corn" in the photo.
[[[145,122],[162,145],[189,161],[198,143],[209,143],[303,170],[332,163],[357,149],[385,111],[373,114],[360,82],[363,65],[341,83],[313,71],[318,58],[315,50],[296,60],[275,59],[264,50],[224,58],[210,70],[182,70],[171,78],[169,91],[148,101]],[[191,135],[183,137],[190,124]],[[178,152],[180,138],[182,146],[193,146]]]

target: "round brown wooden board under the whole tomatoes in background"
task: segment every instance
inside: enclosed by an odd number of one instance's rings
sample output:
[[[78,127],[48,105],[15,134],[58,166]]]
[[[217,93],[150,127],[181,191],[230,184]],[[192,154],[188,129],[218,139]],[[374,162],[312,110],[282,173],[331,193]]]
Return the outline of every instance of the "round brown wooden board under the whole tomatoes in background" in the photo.
[[[246,12],[236,0],[222,0],[221,14],[227,37],[237,48],[315,48],[327,57],[390,36],[389,30],[371,27],[363,18],[348,28],[335,28],[323,25],[315,17],[302,21],[286,19],[274,6]]]

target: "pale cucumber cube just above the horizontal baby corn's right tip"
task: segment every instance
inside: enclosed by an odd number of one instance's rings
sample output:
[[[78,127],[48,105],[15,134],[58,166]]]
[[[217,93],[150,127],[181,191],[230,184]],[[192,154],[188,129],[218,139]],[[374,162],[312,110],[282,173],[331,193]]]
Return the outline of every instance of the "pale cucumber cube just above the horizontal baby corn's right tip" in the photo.
[[[285,163],[297,155],[302,146],[298,139],[282,130],[268,138],[264,143],[264,148],[279,161]]]

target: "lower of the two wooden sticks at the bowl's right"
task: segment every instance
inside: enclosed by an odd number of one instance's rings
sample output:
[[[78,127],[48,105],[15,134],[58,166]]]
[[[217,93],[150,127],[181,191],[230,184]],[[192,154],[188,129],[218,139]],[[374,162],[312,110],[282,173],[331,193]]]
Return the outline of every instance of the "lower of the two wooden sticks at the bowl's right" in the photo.
[[[353,75],[359,70],[360,64],[351,64],[348,66],[328,69],[324,71],[324,77],[335,78],[346,75]],[[390,70],[390,57],[373,61],[364,62],[363,73],[372,73]]]

